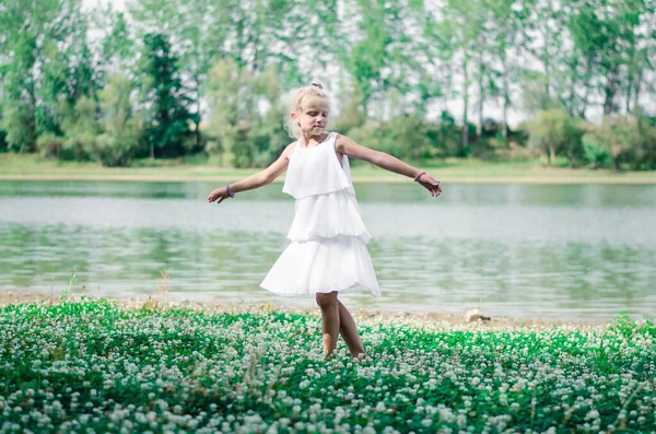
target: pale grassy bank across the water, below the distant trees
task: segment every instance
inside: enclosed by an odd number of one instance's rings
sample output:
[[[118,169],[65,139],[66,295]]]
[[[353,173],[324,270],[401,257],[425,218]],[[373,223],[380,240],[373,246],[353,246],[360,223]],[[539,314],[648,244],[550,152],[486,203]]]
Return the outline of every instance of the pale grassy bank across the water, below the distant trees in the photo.
[[[410,162],[443,183],[656,183],[655,172],[622,172],[547,167],[540,160],[488,162],[446,159]],[[107,180],[237,180],[257,169],[222,168],[215,160],[189,156],[176,160],[138,160],[131,167],[102,167],[96,163],[58,162],[35,154],[0,154],[0,179],[107,179]],[[402,176],[355,162],[358,181],[407,181]],[[284,177],[279,177],[281,181]]]

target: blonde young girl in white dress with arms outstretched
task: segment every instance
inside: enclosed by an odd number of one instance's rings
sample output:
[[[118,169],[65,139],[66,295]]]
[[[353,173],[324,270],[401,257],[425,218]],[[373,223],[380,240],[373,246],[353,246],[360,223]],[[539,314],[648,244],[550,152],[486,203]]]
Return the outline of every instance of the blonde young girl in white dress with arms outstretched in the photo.
[[[282,191],[296,199],[288,234],[291,244],[260,285],[279,295],[316,297],[326,357],[332,355],[338,333],[353,357],[366,357],[353,317],[337,297],[352,291],[380,295],[366,249],[371,236],[360,215],[348,157],[413,178],[433,197],[440,196],[442,187],[425,172],[389,154],[327,132],[329,114],[330,103],[320,84],[293,91],[285,127],[297,140],[269,167],[215,189],[208,200],[221,203],[239,191],[270,184],[288,171]]]

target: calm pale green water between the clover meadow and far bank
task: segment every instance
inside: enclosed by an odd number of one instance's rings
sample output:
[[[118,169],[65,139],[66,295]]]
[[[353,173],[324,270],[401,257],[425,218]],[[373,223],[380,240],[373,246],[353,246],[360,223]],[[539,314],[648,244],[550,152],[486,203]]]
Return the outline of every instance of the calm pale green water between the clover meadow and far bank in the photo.
[[[281,184],[0,181],[0,291],[315,305],[259,288],[286,246]],[[656,186],[355,186],[382,297],[349,307],[600,321],[656,316]]]

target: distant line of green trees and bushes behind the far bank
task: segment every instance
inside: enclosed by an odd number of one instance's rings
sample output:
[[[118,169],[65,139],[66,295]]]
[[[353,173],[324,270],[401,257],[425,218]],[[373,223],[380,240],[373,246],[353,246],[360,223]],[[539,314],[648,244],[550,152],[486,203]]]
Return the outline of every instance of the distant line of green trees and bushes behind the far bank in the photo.
[[[3,151],[265,166],[291,141],[284,93],[314,79],[335,97],[336,130],[399,157],[656,168],[656,121],[641,106],[656,99],[654,0],[0,5]],[[529,115],[517,130],[512,108]],[[586,120],[593,110],[601,125]]]

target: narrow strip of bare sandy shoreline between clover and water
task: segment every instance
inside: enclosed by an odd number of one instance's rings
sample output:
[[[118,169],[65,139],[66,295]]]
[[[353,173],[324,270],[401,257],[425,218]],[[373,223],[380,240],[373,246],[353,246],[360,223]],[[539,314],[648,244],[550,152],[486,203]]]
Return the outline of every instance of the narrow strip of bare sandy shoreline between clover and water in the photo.
[[[86,298],[83,298],[86,296]],[[298,306],[285,306],[280,303],[256,303],[256,304],[239,304],[237,302],[218,302],[218,301],[169,301],[167,300],[166,293],[144,295],[142,298],[136,298],[133,296],[124,297],[101,297],[116,302],[120,308],[124,309],[138,309],[145,306],[156,307],[159,309],[192,309],[195,312],[203,312],[210,314],[238,314],[238,313],[289,313],[300,314],[320,319],[320,312],[318,308],[312,307],[298,307]],[[69,294],[66,298],[67,302],[83,302],[84,300],[96,302],[98,297],[89,294]],[[61,303],[60,296],[55,296],[46,293],[14,293],[14,292],[0,292],[0,306],[13,305],[13,304],[30,304],[44,302],[47,305],[56,305]],[[564,320],[564,319],[548,319],[548,318],[516,318],[507,316],[492,316],[490,320],[472,320],[468,321],[466,318],[466,310],[461,314],[453,313],[441,313],[441,312],[410,312],[410,310],[386,310],[376,308],[352,308],[351,314],[358,322],[362,324],[374,324],[374,322],[388,322],[388,324],[402,324],[419,327],[456,327],[456,328],[485,328],[485,329],[508,329],[508,328],[567,328],[567,329],[596,329],[599,327],[606,327],[611,321],[594,321],[594,320]],[[487,315],[485,312],[481,313]]]

